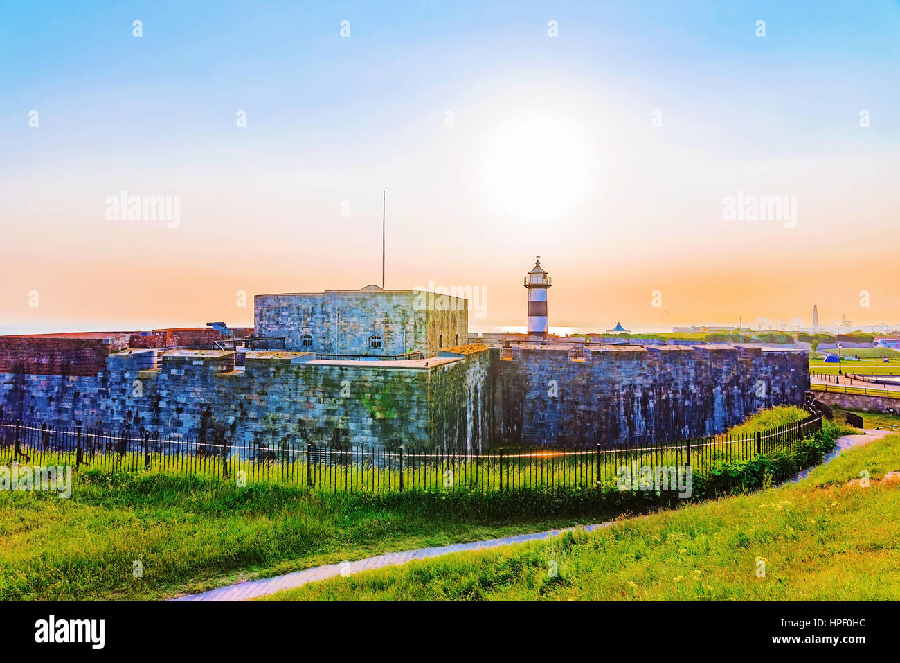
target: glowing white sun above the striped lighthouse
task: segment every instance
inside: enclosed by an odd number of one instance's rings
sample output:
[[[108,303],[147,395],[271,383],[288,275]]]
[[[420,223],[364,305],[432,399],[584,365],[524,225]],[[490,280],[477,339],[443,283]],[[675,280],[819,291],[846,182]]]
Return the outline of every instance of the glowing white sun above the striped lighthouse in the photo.
[[[523,116],[482,146],[479,179],[494,213],[518,221],[560,218],[599,186],[590,132],[572,119]]]

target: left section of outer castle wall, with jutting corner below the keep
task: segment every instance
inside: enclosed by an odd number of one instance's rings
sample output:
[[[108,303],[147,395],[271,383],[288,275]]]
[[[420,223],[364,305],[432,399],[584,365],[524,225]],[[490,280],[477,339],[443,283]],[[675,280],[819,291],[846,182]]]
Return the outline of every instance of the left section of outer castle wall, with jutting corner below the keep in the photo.
[[[152,351],[152,350],[146,350]],[[209,406],[230,440],[269,449],[307,442],[437,445],[480,449],[490,440],[487,411],[473,385],[488,353],[431,366],[416,362],[317,363],[312,353],[172,350],[162,368],[139,370],[139,351],[112,355],[93,377],[0,375],[5,417],[50,425],[102,426],[196,437]],[[478,424],[469,425],[481,417]]]

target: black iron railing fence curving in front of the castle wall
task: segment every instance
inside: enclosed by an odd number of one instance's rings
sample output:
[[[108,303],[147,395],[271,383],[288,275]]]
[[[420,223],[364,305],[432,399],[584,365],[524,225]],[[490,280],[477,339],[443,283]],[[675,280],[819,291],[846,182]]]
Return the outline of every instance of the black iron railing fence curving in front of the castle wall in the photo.
[[[719,461],[791,449],[821,429],[822,418],[810,416],[752,435],[723,434],[668,444],[454,452],[312,443],[269,446],[0,420],[0,463],[155,470],[238,482],[275,481],[335,493],[560,491],[615,486],[623,468],[631,473],[687,467],[692,473],[702,472]]]

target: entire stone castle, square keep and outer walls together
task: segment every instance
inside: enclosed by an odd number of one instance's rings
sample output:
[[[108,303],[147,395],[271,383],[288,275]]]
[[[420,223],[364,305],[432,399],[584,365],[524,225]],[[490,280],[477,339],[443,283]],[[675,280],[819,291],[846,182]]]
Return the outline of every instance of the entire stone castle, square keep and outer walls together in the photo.
[[[709,435],[800,404],[809,388],[796,350],[555,341],[545,327],[470,339],[464,299],[419,291],[257,295],[254,313],[243,340],[202,329],[3,337],[3,416],[195,436],[209,408],[232,440],[269,448],[479,450]]]

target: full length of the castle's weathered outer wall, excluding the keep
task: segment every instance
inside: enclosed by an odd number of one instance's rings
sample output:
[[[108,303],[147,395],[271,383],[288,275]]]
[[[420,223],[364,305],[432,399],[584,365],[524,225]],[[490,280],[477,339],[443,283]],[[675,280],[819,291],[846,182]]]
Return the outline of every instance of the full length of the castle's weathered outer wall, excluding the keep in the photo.
[[[762,407],[801,404],[805,352],[729,346],[465,345],[410,362],[322,362],[312,353],[112,354],[91,375],[0,374],[4,416],[196,436],[202,411],[231,440],[479,450],[643,443],[725,431]],[[96,367],[93,367],[96,368]]]

